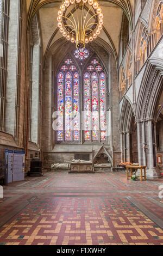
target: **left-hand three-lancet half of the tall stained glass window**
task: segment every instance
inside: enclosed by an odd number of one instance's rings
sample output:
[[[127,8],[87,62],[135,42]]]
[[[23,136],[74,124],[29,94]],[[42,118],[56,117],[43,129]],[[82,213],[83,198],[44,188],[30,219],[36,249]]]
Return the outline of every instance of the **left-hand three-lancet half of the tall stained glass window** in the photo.
[[[57,86],[57,141],[80,140],[80,79],[76,65],[67,58],[61,65]]]

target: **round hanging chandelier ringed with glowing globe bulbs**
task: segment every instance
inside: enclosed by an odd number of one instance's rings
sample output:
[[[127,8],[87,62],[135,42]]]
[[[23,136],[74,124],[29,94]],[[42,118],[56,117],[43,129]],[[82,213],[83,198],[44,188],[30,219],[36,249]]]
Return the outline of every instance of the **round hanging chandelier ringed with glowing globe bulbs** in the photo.
[[[103,17],[97,0],[65,0],[57,21],[62,36],[76,43],[77,48],[83,48],[101,33]]]

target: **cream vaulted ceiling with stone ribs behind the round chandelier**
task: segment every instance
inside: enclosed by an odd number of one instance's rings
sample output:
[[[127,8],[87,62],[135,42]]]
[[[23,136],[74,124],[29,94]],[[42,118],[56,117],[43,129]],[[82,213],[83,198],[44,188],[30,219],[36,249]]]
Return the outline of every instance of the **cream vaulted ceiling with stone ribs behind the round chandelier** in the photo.
[[[43,53],[60,39],[62,35],[57,28],[57,14],[62,1],[58,0],[26,0],[28,11],[28,28],[35,14],[39,14]],[[134,0],[101,0],[104,14],[104,30],[100,38],[105,41],[116,55],[120,44],[121,23],[123,13],[128,17],[133,28]]]

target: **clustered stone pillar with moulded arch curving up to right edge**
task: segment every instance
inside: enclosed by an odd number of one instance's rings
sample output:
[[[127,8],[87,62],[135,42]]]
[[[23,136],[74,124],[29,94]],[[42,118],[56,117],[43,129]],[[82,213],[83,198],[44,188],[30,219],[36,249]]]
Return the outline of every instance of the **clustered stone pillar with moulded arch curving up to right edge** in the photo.
[[[162,59],[149,59],[137,99],[136,123],[139,163],[147,166],[147,176],[158,178],[156,152],[156,115],[163,89]]]

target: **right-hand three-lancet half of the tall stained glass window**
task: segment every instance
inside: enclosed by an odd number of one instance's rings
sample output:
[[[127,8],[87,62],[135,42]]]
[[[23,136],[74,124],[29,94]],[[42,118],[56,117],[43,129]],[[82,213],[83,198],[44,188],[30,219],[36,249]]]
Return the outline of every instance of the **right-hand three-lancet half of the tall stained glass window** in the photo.
[[[91,60],[87,70],[89,72],[84,75],[84,110],[87,111],[84,139],[90,142],[106,141],[106,76],[96,58]]]

